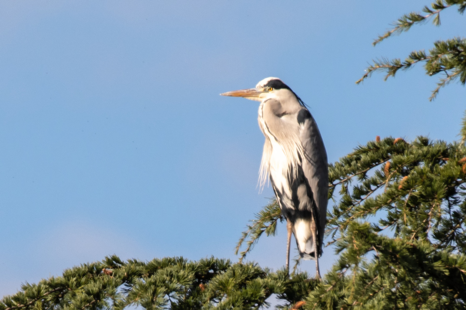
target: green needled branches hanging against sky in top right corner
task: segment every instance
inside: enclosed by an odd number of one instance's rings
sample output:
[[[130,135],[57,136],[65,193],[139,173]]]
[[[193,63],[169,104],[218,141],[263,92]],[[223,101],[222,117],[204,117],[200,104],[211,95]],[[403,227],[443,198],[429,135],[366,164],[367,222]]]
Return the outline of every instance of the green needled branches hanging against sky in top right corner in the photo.
[[[466,9],[465,0],[437,0],[431,4],[432,9],[424,7],[423,11],[427,15],[415,12],[405,14],[394,23],[395,27],[393,29],[379,36],[373,42],[373,45],[388,38],[391,34],[408,31],[414,24],[426,21],[432,16],[434,16],[433,23],[440,26],[440,12],[447,7],[455,5],[458,6],[459,13],[463,14]],[[443,77],[440,77],[437,87],[432,91],[432,95],[429,98],[432,101],[439,93],[440,88],[450,82],[459,79],[461,84],[464,85],[466,83],[466,39],[458,37],[445,41],[435,41],[434,47],[429,50],[429,55],[424,50],[413,51],[404,61],[401,61],[399,58],[393,60],[385,58],[373,60],[373,64],[366,69],[366,73],[356,81],[356,84],[362,83],[374,71],[385,71],[384,80],[386,81],[388,77],[395,76],[399,69],[410,69],[412,65],[418,62],[425,62],[424,68],[427,75],[433,76],[438,73],[443,75]]]

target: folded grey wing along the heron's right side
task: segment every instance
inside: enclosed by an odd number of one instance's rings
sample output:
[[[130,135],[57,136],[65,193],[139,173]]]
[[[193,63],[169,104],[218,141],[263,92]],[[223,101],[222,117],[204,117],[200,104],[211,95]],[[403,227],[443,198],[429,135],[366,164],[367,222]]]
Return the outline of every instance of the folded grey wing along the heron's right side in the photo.
[[[304,151],[302,170],[312,190],[315,206],[317,208],[317,229],[319,243],[322,240],[327,220],[327,203],[329,201],[329,166],[327,152],[323,145],[322,136],[314,118],[306,108],[297,114],[300,125],[300,140]]]

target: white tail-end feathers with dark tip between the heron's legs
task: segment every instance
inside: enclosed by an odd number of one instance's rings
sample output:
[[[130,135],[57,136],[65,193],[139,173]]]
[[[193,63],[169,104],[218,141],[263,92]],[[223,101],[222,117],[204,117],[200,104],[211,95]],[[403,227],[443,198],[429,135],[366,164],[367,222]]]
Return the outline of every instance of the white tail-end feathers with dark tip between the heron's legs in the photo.
[[[314,220],[297,219],[294,225],[296,244],[298,245],[299,255],[305,259],[315,259],[320,256],[320,238],[315,236],[317,245],[314,244],[313,232],[317,234]]]

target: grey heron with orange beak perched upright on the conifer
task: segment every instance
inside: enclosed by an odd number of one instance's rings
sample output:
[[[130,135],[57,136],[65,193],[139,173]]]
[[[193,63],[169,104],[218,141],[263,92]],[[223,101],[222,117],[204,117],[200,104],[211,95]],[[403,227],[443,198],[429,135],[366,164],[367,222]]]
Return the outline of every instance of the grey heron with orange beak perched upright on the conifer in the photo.
[[[316,277],[320,278],[329,171],[327,152],[314,118],[301,98],[276,77],[263,79],[255,88],[221,95],[260,101],[258,121],[266,138],[260,185],[269,178],[287,221],[286,269],[293,233],[299,255],[305,260],[315,259]]]

